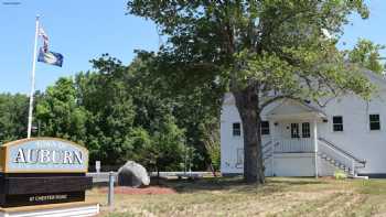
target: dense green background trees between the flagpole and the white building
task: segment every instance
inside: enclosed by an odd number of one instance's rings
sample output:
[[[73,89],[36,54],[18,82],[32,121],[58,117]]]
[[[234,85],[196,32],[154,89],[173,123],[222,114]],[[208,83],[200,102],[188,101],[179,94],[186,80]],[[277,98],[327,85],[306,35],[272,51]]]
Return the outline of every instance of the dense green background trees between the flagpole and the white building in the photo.
[[[96,160],[104,165],[135,160],[149,170],[181,170],[187,143],[195,150],[193,169],[206,169],[211,154],[204,145],[210,139],[205,133],[218,132],[218,126],[199,128],[217,122],[208,108],[212,104],[203,104],[202,90],[174,93],[157,76],[151,58],[139,57],[124,66],[103,55],[92,63],[92,72],[60,78],[37,96],[34,135],[86,145],[90,165]]]

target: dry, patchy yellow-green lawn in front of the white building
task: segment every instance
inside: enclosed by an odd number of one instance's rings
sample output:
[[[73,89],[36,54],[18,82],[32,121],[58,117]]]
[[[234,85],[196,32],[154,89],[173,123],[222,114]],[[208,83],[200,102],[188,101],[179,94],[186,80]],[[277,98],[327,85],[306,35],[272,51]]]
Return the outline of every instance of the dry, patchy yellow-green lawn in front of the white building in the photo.
[[[168,181],[171,195],[116,194],[112,210],[95,188],[88,199],[101,216],[386,216],[386,180],[267,178],[246,185],[239,178]]]

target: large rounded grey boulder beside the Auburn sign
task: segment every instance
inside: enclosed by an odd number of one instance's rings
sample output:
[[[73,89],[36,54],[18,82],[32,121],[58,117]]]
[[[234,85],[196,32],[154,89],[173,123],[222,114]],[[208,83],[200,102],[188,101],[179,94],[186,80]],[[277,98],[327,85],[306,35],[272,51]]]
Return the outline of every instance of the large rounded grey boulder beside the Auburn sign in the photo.
[[[118,170],[118,185],[120,186],[139,187],[149,184],[150,177],[141,164],[128,161]]]

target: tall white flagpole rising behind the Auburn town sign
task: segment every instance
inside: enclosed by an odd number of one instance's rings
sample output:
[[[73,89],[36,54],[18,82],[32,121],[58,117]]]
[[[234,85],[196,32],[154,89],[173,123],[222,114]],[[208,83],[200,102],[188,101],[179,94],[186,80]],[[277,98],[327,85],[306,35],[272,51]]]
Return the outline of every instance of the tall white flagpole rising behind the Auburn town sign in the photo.
[[[33,47],[33,62],[32,62],[32,76],[31,76],[31,91],[30,91],[30,108],[29,108],[29,126],[26,138],[31,138],[32,130],[32,115],[33,115],[33,95],[35,93],[35,69],[36,69],[36,55],[37,55],[37,36],[39,36],[39,15],[36,15],[36,28],[35,28],[35,42]]]

